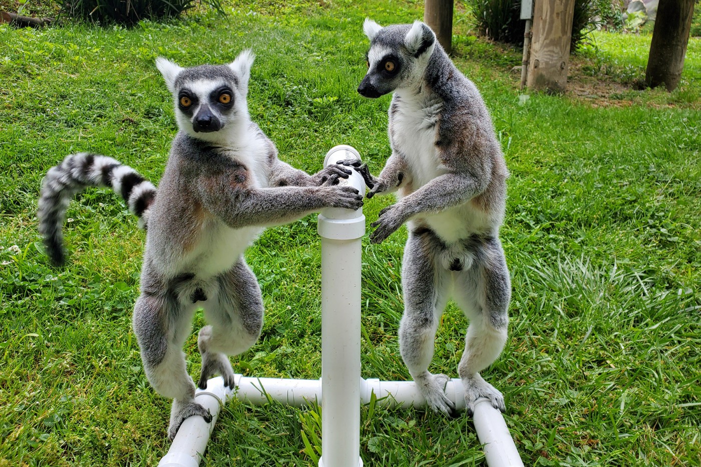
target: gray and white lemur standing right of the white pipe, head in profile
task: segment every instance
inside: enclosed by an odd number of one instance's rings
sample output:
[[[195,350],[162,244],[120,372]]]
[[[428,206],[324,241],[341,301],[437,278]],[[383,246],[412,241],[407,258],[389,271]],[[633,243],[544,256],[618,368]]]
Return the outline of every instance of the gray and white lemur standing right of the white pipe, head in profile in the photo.
[[[452,413],[448,377],[428,365],[440,316],[454,299],[470,320],[458,374],[465,402],[489,398],[505,410],[503,395],[479,375],[501,353],[507,337],[509,272],[498,238],[508,177],[501,147],[479,91],[458,71],[422,22],[381,27],[365,20],[368,71],[358,92],[394,93],[388,133],[392,154],[378,177],[367,166],[367,197],[397,191],[398,201],[372,224],[374,243],[404,222],[404,316],[400,352],[428,405]],[[350,161],[348,162],[350,163]]]

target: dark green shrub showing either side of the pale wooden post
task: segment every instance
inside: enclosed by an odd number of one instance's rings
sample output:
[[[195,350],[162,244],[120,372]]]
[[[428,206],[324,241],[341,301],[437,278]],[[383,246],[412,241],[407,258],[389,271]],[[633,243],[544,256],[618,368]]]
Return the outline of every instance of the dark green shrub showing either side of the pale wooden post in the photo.
[[[472,14],[479,34],[499,42],[521,44],[526,22],[520,19],[520,0],[470,0]],[[585,36],[593,29],[591,18],[594,4],[590,0],[576,0],[572,24],[570,51],[577,50]]]

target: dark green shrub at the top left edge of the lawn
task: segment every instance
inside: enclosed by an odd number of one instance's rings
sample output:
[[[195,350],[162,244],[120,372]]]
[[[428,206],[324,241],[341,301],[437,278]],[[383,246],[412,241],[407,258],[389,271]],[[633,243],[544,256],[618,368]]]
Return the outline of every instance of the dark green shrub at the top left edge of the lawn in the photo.
[[[93,22],[134,25],[139,20],[175,18],[198,4],[198,0],[59,0],[61,12]],[[205,4],[223,12],[219,0]]]

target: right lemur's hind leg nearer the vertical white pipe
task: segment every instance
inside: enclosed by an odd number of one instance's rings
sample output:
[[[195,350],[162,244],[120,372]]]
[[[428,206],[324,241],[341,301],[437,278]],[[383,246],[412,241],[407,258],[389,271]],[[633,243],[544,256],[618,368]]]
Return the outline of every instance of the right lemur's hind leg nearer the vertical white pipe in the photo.
[[[434,412],[455,413],[455,405],[445,395],[446,374],[428,372],[440,316],[447,303],[448,284],[437,271],[434,245],[428,236],[409,234],[404,248],[402,288],[404,316],[400,323],[399,345],[404,364]]]

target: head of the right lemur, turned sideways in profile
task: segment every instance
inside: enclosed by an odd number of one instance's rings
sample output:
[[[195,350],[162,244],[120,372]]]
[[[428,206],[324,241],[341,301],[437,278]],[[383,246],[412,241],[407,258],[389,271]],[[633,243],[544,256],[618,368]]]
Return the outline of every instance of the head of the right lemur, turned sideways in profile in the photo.
[[[397,88],[418,85],[435,48],[436,36],[421,21],[413,25],[381,27],[367,18],[363,24],[370,39],[367,74],[358,86],[365,97],[380,97]]]

